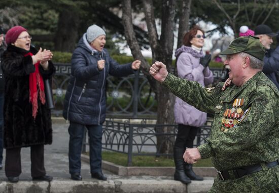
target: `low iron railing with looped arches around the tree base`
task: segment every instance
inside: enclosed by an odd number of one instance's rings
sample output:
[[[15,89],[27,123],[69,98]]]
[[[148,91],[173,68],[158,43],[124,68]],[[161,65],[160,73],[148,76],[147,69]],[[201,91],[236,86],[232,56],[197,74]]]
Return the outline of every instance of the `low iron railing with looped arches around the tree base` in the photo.
[[[135,123],[136,121],[138,123]],[[128,166],[132,165],[132,156],[172,156],[172,153],[161,153],[161,150],[165,142],[169,142],[173,146],[177,134],[177,125],[158,125],[147,122],[151,122],[151,120],[142,119],[140,122],[134,119],[107,120],[103,124],[102,149],[127,154]],[[205,142],[205,138],[210,133],[210,125],[211,121],[207,121],[204,126],[198,128],[194,147]],[[172,129],[169,133],[157,133],[155,127]],[[158,137],[161,137],[160,142],[157,140]],[[83,152],[85,152],[86,146],[89,144],[87,137],[84,137],[83,144]]]

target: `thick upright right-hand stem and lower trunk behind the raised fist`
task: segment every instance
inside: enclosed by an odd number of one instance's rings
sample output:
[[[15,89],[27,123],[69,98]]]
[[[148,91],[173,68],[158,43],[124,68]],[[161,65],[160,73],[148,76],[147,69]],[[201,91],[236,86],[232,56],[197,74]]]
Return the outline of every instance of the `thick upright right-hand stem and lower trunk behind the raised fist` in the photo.
[[[156,49],[156,60],[163,62],[170,71],[172,63],[174,28],[175,28],[175,0],[163,0],[162,2],[162,26],[160,37],[160,49]],[[174,95],[161,84],[157,84],[157,124],[174,124],[173,105]],[[157,133],[172,133],[173,127],[156,127]],[[174,138],[166,138],[165,135],[157,136],[157,148],[161,154],[171,154]]]

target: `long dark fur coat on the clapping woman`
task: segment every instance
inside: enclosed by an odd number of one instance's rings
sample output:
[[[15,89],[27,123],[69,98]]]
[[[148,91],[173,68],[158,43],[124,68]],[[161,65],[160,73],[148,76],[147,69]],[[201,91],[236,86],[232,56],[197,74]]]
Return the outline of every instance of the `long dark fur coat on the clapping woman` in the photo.
[[[31,47],[34,55],[37,50]],[[31,56],[14,45],[8,45],[2,56],[2,69],[5,76],[4,102],[4,147],[20,148],[36,144],[52,143],[51,113],[46,105],[38,100],[38,114],[32,117],[32,104],[29,102],[29,74],[34,72]],[[55,72],[52,62],[49,69],[39,67],[43,79],[51,78]]]

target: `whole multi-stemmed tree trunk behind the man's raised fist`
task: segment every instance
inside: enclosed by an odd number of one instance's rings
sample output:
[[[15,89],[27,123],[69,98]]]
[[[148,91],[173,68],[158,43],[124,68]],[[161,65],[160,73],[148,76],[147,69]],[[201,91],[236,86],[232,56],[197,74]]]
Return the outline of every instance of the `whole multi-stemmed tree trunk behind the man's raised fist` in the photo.
[[[143,0],[145,19],[148,28],[149,42],[152,50],[152,58],[154,61],[163,62],[167,70],[170,71],[172,63],[173,52],[173,40],[174,40],[174,27],[175,27],[175,0],[163,0],[162,1],[162,26],[160,40],[155,25],[154,9],[152,0]],[[125,28],[125,36],[127,43],[131,49],[134,58],[142,60],[140,54],[140,47],[134,36],[132,28],[132,16],[131,16],[131,1],[123,0],[123,25]],[[164,126],[174,123],[173,105],[175,102],[174,95],[159,82],[155,81],[149,75],[150,66],[145,60],[142,60],[142,70],[145,72],[150,80],[152,88],[155,90],[156,99],[158,101],[157,109],[157,126],[155,131],[157,134],[157,151],[161,154],[171,154],[174,142],[174,137],[166,137],[166,135],[160,135],[161,133],[172,133],[174,127]],[[160,126],[163,125],[163,126]]]

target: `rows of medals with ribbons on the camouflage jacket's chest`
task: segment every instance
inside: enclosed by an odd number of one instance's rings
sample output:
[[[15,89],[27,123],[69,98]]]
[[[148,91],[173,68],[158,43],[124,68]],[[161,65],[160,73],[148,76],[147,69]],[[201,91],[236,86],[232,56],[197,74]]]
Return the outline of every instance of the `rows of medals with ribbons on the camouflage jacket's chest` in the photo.
[[[223,126],[221,131],[227,132],[229,128],[232,128],[234,125],[237,124],[237,119],[239,119],[243,115],[243,110],[241,106],[243,105],[243,99],[235,99],[232,108],[227,109],[222,118]]]

